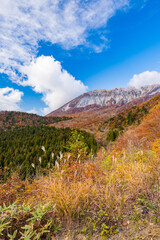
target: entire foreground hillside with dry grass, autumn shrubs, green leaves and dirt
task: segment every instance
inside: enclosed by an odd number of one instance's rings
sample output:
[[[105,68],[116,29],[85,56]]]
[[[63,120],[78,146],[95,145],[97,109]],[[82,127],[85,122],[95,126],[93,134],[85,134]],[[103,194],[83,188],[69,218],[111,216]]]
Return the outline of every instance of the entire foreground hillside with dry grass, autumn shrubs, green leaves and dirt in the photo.
[[[160,102],[152,101],[96,158],[82,154],[76,133],[46,175],[1,184],[1,238],[160,239]]]

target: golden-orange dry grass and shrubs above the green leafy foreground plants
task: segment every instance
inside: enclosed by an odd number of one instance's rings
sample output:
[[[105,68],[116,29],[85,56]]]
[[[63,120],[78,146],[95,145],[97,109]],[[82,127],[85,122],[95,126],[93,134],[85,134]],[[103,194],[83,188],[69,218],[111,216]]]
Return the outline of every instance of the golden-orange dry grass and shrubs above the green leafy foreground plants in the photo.
[[[157,107],[155,111],[159,109]],[[141,136],[148,124],[149,133],[159,126],[157,118],[153,116],[154,110],[146,122],[137,128],[138,133],[141,129]],[[95,234],[111,236],[128,220],[157,226],[160,221],[159,137],[159,132],[155,132],[148,147],[145,149],[143,145],[142,150],[142,138],[138,136],[135,142],[130,142],[128,135],[125,150],[121,147],[120,151],[113,150],[108,154],[101,149],[94,162],[61,162],[49,176],[39,177],[33,182],[21,182],[15,175],[7,183],[1,184],[0,205],[4,202],[8,205],[16,200],[17,204],[26,203],[32,209],[39,205],[43,209],[52,206],[52,211],[51,208],[45,210],[45,221],[54,219],[59,226],[68,229],[76,223],[79,233],[83,232],[90,239]],[[149,214],[143,214],[145,208],[149,209]],[[22,223],[25,224],[21,219],[19,224]],[[12,228],[14,231],[14,223]],[[50,231],[51,234],[55,233],[53,229]],[[45,235],[42,239],[51,237]]]

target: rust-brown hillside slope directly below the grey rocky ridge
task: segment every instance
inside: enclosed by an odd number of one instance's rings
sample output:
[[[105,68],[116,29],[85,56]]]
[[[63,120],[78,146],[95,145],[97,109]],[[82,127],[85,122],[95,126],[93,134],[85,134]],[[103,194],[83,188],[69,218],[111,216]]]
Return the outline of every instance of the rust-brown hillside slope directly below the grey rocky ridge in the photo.
[[[114,121],[116,122],[118,120],[118,114],[121,113],[123,117],[127,118],[127,115],[130,111],[136,112],[138,110],[138,107],[140,109],[145,108],[147,111],[149,111],[153,106],[155,106],[160,101],[160,94],[145,101],[145,99],[135,99],[127,104],[124,104],[123,106],[119,108],[111,107],[109,109],[100,109],[93,112],[85,112],[85,113],[79,113],[79,114],[72,114],[68,116],[72,116],[72,119],[68,121],[61,121],[58,123],[51,124],[58,128],[65,128],[65,127],[71,127],[71,128],[77,128],[82,129],[85,131],[88,131],[89,133],[94,134],[96,140],[99,143],[102,143],[103,145],[106,144],[106,135],[111,127],[108,124],[108,120],[112,119],[110,121],[110,124]],[[134,107],[137,106],[137,108]],[[145,110],[144,109],[144,110]],[[140,114],[141,113],[141,114]],[[145,111],[140,111],[139,114],[136,116],[136,123],[138,124],[139,121],[141,121],[141,118],[145,116]],[[114,116],[115,119],[114,119]],[[139,119],[139,121],[138,121]],[[124,123],[122,124],[122,127]]]

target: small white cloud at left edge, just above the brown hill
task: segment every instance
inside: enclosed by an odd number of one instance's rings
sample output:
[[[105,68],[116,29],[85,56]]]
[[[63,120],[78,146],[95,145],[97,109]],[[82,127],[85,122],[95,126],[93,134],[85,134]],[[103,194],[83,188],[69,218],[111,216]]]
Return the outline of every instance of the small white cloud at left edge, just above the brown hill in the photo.
[[[23,92],[13,88],[0,88],[0,111],[2,110],[20,110],[19,103]]]

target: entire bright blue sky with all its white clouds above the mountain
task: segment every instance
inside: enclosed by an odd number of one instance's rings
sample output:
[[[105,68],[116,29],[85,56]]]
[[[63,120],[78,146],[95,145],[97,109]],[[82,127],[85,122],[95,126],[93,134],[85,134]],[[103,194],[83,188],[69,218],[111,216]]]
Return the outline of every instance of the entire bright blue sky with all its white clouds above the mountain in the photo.
[[[0,110],[47,114],[95,89],[160,83],[158,0],[8,0]]]

